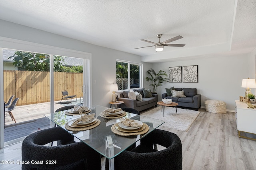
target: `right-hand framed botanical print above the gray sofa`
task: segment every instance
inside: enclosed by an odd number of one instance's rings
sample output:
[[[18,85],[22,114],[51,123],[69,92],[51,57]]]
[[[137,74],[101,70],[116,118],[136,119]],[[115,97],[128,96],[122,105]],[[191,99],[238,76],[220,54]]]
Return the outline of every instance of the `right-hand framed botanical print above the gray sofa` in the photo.
[[[183,66],[183,82],[197,83],[198,72],[197,65],[194,66]]]

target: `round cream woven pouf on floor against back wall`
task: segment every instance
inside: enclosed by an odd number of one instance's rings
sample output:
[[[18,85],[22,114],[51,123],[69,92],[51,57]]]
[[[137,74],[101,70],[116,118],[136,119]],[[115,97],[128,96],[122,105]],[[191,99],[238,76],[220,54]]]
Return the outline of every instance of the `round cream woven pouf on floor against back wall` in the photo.
[[[220,100],[206,100],[204,102],[205,110],[211,113],[227,113],[226,103]]]

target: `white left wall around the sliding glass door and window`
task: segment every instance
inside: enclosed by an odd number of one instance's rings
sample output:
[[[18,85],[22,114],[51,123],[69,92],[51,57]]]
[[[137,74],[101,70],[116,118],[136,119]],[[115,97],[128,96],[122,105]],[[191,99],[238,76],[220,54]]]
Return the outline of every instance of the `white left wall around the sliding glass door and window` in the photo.
[[[110,84],[116,83],[116,59],[142,63],[138,55],[92,45],[83,41],[70,39],[4,20],[0,20],[0,25],[1,37],[91,53],[92,82],[96,80],[96,84],[92,84],[92,104],[109,107],[108,102],[111,100],[112,94],[109,91]],[[152,64],[149,63],[142,64],[144,70],[152,66]]]

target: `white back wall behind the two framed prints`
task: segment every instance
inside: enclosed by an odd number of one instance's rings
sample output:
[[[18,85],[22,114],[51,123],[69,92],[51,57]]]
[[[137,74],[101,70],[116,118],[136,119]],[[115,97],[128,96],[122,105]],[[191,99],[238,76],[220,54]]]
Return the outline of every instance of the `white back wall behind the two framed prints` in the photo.
[[[190,65],[198,65],[198,83],[166,82],[162,88],[157,89],[158,94],[165,93],[165,88],[172,86],[177,88],[197,88],[198,94],[202,95],[202,107],[205,106],[204,101],[205,96],[207,96],[208,100],[226,102],[227,109],[234,111],[234,100],[239,100],[239,96],[245,96],[245,88],[241,88],[242,79],[247,77],[255,78],[255,54],[254,58],[248,57],[248,55],[238,55],[156,63],[153,64],[153,68],[156,71],[163,69],[168,73],[169,67]],[[158,100],[161,100],[161,95],[158,96]]]

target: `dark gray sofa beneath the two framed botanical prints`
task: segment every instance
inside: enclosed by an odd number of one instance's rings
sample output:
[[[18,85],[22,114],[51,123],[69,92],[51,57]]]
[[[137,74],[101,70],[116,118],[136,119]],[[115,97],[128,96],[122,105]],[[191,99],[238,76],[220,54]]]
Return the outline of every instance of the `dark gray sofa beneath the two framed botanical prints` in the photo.
[[[169,89],[166,89],[168,92]],[[172,102],[178,103],[181,107],[191,107],[198,110],[201,107],[201,94],[197,94],[196,88],[172,88],[172,90],[181,91],[184,90],[186,97],[172,97],[170,92],[162,94],[162,98],[172,99]]]

